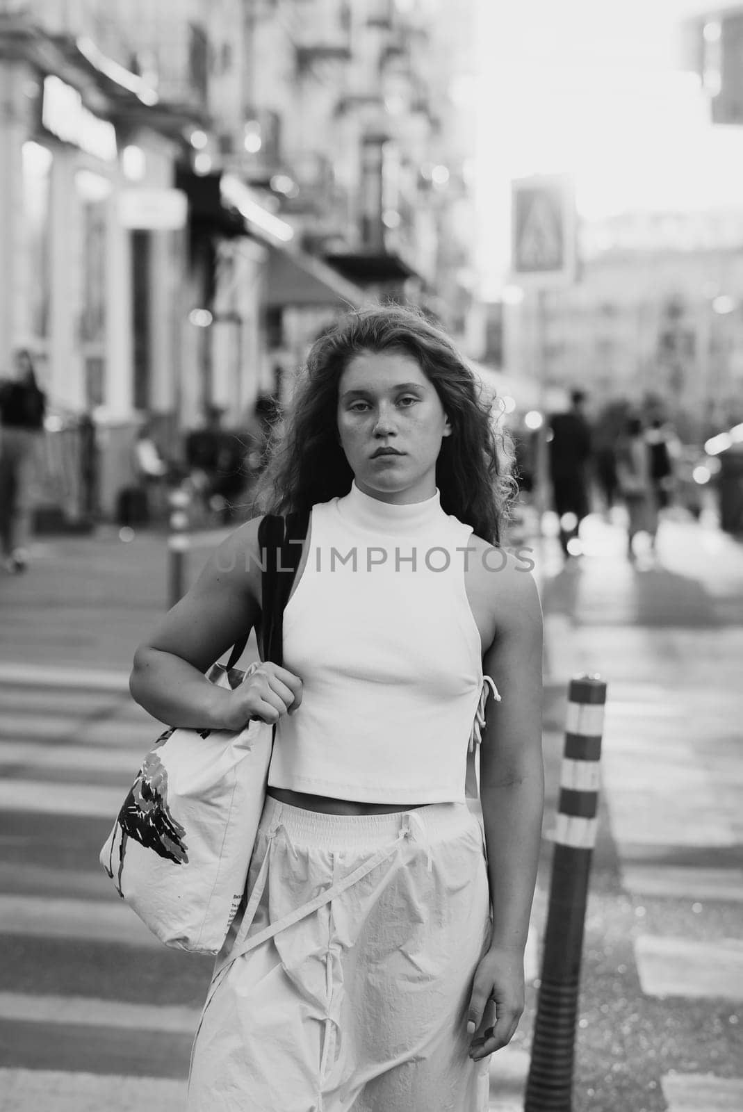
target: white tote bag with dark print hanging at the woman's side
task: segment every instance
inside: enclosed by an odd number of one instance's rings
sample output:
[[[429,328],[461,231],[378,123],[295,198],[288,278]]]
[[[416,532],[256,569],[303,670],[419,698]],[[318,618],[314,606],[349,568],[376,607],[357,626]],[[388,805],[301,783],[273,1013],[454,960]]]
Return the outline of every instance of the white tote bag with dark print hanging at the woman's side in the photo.
[[[216,664],[235,688],[247,673]],[[167,946],[217,954],[242,898],[266,795],[273,727],[167,729],[147,754],[100,863]]]

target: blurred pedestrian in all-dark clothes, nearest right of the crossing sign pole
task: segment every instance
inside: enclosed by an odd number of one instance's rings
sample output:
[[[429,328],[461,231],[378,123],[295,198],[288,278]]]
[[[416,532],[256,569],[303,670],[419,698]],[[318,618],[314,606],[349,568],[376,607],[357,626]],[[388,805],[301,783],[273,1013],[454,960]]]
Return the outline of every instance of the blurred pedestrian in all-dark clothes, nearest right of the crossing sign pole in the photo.
[[[584,413],[585,394],[573,390],[571,408],[549,419],[549,480],[553,506],[559,517],[559,544],[565,556],[572,555],[571,540],[578,536],[581,522],[588,513],[588,460],[591,429]]]

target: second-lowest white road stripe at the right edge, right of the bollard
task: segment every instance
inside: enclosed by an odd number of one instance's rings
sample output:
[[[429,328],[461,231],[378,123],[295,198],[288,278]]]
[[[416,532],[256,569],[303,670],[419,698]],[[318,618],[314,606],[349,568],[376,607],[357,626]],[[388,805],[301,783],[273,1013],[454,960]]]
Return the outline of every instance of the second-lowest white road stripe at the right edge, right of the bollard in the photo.
[[[648,996],[743,1000],[743,942],[641,934],[634,941],[643,992]]]

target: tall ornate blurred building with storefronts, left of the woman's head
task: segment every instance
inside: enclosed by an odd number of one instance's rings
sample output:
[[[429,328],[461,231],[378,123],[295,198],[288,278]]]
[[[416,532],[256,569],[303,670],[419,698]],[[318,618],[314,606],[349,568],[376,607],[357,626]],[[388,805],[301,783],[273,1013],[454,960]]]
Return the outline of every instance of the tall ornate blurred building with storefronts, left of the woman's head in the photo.
[[[143,417],[238,425],[343,308],[464,330],[470,6],[0,0],[0,374],[96,415],[105,510]]]

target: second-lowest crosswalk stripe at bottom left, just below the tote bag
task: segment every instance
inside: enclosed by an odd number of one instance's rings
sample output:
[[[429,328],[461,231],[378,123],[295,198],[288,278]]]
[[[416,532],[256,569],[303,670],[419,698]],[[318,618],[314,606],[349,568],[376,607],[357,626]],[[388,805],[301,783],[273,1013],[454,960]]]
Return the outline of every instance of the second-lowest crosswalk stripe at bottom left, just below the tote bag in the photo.
[[[37,996],[0,992],[0,1020],[19,1023],[127,1027],[132,1031],[192,1036],[200,1014],[200,1009],[179,1007],[176,1004],[128,1004],[91,996]]]

